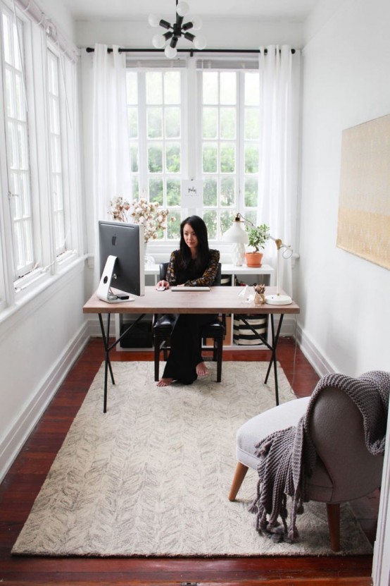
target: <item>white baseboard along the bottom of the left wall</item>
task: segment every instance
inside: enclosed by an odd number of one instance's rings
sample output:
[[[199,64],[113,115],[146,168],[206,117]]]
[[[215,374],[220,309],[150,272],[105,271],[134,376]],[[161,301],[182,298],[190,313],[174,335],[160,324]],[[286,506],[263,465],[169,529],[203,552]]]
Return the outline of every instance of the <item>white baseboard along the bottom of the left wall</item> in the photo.
[[[58,391],[66,375],[78,358],[82,349],[89,340],[89,331],[87,324],[83,324],[76,336],[71,340],[58,358],[57,362],[52,365],[51,370],[47,372],[46,377],[39,389],[36,389],[32,399],[23,411],[18,415],[13,426],[8,433],[2,438],[0,443],[0,482],[4,479],[6,473],[25,444],[34,426],[37,425],[42,413],[47,405]]]

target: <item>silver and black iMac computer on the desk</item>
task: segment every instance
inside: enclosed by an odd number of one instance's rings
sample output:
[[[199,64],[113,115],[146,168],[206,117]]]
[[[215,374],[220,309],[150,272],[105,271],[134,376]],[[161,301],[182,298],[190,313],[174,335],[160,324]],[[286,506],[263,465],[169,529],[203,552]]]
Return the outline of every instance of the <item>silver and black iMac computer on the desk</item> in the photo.
[[[144,226],[99,221],[99,253],[100,300],[120,303],[145,294]]]

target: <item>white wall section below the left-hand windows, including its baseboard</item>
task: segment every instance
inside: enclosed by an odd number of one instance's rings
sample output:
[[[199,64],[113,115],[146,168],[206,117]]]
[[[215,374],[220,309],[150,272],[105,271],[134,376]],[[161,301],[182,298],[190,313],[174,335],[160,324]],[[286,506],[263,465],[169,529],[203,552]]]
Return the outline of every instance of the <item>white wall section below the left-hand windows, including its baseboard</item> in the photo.
[[[0,482],[88,341],[84,265],[1,315]]]

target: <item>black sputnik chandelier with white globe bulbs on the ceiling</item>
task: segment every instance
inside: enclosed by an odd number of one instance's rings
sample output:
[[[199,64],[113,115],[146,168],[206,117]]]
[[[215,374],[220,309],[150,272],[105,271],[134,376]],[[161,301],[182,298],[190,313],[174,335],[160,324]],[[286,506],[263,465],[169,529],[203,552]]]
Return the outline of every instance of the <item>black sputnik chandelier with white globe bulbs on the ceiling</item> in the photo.
[[[153,38],[151,39],[153,47],[156,47],[156,49],[164,48],[165,56],[168,57],[168,59],[174,59],[177,55],[176,45],[180,37],[184,37],[184,39],[194,43],[195,49],[201,50],[206,47],[206,39],[203,35],[192,35],[191,32],[188,32],[190,29],[199,30],[202,25],[201,19],[198,16],[191,16],[188,17],[189,20],[183,24],[184,16],[187,16],[188,13],[189,5],[187,2],[177,2],[176,0],[176,22],[173,25],[155,14],[149,15],[149,25],[152,27],[161,26],[168,30],[168,32],[165,32],[163,35],[153,35]]]

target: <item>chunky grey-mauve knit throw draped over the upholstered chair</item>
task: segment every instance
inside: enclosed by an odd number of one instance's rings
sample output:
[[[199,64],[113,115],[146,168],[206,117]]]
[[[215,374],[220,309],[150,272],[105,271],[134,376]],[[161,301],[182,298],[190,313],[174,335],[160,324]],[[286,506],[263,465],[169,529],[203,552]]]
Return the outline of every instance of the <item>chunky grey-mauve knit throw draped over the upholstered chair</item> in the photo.
[[[262,458],[258,465],[257,495],[250,511],[257,515],[258,532],[273,541],[298,540],[296,515],[303,513],[303,503],[308,501],[308,478],[316,460],[308,423],[317,396],[329,386],[344,391],[357,405],[363,415],[365,442],[370,453],[376,456],[384,454],[390,372],[376,370],[357,378],[344,374],[327,374],[322,377],[298,425],[274,432],[256,446],[256,455]],[[289,526],[288,496],[291,496]]]

